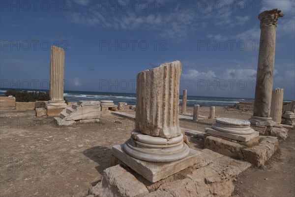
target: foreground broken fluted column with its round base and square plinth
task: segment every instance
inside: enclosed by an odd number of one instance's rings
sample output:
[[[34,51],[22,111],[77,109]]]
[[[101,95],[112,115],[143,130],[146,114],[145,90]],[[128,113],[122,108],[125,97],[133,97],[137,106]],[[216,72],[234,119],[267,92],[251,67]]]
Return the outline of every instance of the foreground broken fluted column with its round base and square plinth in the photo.
[[[116,158],[150,182],[193,165],[199,154],[183,142],[179,127],[180,73],[181,63],[174,61],[137,74],[135,129],[128,141],[113,147]],[[157,82],[163,79],[165,86],[159,88]],[[163,168],[146,165],[141,169],[143,161],[159,163]]]

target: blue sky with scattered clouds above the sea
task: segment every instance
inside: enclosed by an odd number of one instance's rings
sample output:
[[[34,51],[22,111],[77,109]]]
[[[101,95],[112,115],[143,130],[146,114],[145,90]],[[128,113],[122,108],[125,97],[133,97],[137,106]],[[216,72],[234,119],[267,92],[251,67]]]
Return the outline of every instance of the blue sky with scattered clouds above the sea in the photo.
[[[273,88],[294,100],[294,0],[1,0],[0,87],[49,89],[54,45],[65,90],[135,93],[138,72],[179,60],[180,94],[254,98],[258,15],[273,8]]]

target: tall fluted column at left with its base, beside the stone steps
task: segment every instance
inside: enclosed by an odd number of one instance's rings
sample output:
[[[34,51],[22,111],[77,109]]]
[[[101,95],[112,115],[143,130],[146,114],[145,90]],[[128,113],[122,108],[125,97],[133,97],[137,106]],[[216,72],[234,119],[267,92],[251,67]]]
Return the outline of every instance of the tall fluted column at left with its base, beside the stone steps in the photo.
[[[50,56],[50,100],[46,104],[47,115],[49,116],[59,115],[67,106],[63,100],[63,73],[64,51],[62,48],[52,46]]]

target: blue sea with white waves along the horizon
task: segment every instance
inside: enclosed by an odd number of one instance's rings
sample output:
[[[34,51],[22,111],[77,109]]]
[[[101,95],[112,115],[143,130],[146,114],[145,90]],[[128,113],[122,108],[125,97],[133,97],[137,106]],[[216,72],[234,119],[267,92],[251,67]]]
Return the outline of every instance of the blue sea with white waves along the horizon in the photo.
[[[4,95],[8,88],[0,88],[0,95]],[[17,91],[42,91],[48,92],[44,89],[16,89]],[[77,101],[101,101],[112,100],[117,105],[118,102],[125,102],[128,105],[136,105],[136,94],[134,93],[116,93],[116,92],[92,92],[92,91],[71,91],[64,90],[63,96],[68,102]],[[209,106],[233,106],[240,101],[253,101],[249,98],[229,98],[229,97],[210,97],[210,96],[187,96],[187,106],[193,107],[200,105],[204,107]],[[182,104],[182,95],[179,96],[179,104]]]

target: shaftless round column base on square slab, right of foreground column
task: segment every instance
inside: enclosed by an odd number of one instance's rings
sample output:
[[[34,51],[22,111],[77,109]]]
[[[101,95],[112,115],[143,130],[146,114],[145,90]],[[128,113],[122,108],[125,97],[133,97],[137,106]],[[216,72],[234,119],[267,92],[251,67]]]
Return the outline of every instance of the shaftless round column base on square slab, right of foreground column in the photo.
[[[249,121],[236,118],[216,118],[216,123],[206,128],[206,133],[243,142],[259,136],[259,132],[250,127]]]

